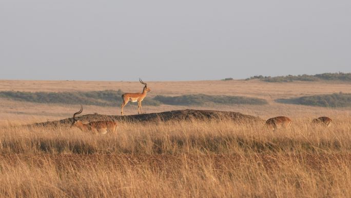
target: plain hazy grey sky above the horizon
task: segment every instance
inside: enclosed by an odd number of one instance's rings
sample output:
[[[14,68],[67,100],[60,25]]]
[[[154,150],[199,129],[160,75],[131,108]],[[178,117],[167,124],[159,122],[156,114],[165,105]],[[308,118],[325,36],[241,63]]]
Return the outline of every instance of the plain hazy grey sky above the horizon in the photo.
[[[351,72],[351,1],[0,0],[0,79]]]

